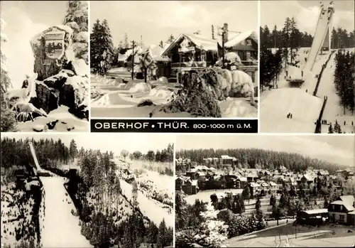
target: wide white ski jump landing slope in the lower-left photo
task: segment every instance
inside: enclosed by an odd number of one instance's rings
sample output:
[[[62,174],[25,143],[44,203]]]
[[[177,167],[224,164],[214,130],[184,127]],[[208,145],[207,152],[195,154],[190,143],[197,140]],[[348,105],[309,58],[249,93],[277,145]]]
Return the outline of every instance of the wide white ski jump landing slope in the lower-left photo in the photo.
[[[80,233],[79,218],[72,215],[75,206],[59,176],[41,177],[45,190],[45,218],[40,220],[43,247],[92,247]]]

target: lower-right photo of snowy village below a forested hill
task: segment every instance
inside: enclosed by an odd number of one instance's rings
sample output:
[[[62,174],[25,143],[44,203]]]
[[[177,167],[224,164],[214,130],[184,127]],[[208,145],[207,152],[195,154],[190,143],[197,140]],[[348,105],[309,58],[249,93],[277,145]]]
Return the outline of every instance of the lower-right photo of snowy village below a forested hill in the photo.
[[[179,134],[175,144],[175,248],[354,246],[354,135]]]

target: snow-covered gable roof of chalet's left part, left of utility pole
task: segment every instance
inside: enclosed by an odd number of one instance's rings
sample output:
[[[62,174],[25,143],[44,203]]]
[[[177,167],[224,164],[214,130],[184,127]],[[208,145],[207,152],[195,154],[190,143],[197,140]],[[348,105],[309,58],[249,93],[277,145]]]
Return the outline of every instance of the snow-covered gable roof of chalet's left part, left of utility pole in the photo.
[[[181,33],[178,38],[173,41],[163,52],[163,56],[168,55],[168,52],[178,43],[179,41],[182,40],[182,38],[187,38],[190,40],[192,43],[194,43],[197,48],[200,48],[202,50],[213,50],[213,51],[218,51],[218,42],[215,40],[212,40],[211,38],[205,38],[200,35],[195,35],[195,34],[187,34],[187,33]]]

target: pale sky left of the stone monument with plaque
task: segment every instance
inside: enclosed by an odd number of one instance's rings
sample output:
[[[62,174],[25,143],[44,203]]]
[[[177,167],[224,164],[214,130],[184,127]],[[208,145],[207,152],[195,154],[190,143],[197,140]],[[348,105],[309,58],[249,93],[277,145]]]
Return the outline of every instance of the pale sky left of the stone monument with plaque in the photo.
[[[13,87],[21,87],[25,75],[33,73],[31,38],[50,26],[62,24],[67,1],[1,1],[0,16],[9,39],[1,44],[7,58]]]

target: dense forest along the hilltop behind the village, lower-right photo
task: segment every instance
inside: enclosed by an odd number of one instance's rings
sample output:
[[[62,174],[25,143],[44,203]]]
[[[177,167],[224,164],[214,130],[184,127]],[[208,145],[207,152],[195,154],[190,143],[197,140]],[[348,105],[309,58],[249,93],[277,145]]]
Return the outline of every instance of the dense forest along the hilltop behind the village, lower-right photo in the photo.
[[[236,158],[232,165],[236,168],[263,168],[274,170],[285,166],[290,171],[302,172],[307,168],[323,169],[334,173],[339,168],[344,168],[336,163],[329,163],[317,158],[310,158],[298,153],[285,151],[270,151],[263,149],[192,149],[176,152],[176,158],[190,158],[195,163],[204,163],[203,158],[221,158],[229,155]],[[187,171],[193,163],[187,165],[176,164],[176,171]],[[209,166],[218,167],[219,163]]]

